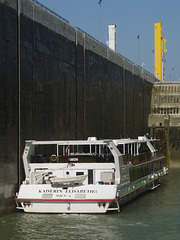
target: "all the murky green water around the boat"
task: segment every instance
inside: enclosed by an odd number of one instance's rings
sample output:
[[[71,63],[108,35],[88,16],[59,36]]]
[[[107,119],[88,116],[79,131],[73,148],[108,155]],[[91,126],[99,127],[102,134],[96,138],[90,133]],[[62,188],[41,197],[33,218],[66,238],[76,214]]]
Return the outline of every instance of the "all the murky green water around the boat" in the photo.
[[[171,168],[162,184],[121,208],[120,213],[25,214],[0,218],[3,240],[171,240],[180,239],[180,168]]]

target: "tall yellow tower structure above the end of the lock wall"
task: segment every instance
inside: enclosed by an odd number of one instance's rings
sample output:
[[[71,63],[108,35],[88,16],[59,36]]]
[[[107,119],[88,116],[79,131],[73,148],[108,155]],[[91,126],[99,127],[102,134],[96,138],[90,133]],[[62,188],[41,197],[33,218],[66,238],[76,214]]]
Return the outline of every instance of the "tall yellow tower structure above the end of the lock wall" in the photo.
[[[164,53],[166,39],[163,39],[162,22],[154,23],[154,56],[155,56],[155,71],[154,75],[160,81],[164,79]]]

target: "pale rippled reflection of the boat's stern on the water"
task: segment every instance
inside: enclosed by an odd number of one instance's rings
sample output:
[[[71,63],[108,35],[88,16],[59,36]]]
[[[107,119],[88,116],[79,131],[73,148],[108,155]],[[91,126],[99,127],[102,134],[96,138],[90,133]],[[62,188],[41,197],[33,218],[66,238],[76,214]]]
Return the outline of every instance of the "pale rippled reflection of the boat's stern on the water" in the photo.
[[[21,214],[12,239],[116,239],[107,220],[98,215]]]

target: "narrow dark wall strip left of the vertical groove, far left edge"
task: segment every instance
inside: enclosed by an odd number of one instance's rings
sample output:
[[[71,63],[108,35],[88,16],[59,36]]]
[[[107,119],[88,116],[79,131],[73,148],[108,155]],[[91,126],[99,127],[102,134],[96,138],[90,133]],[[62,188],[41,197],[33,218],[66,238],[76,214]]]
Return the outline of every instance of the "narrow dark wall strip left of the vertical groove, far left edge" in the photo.
[[[0,215],[17,186],[17,3],[0,1]]]

